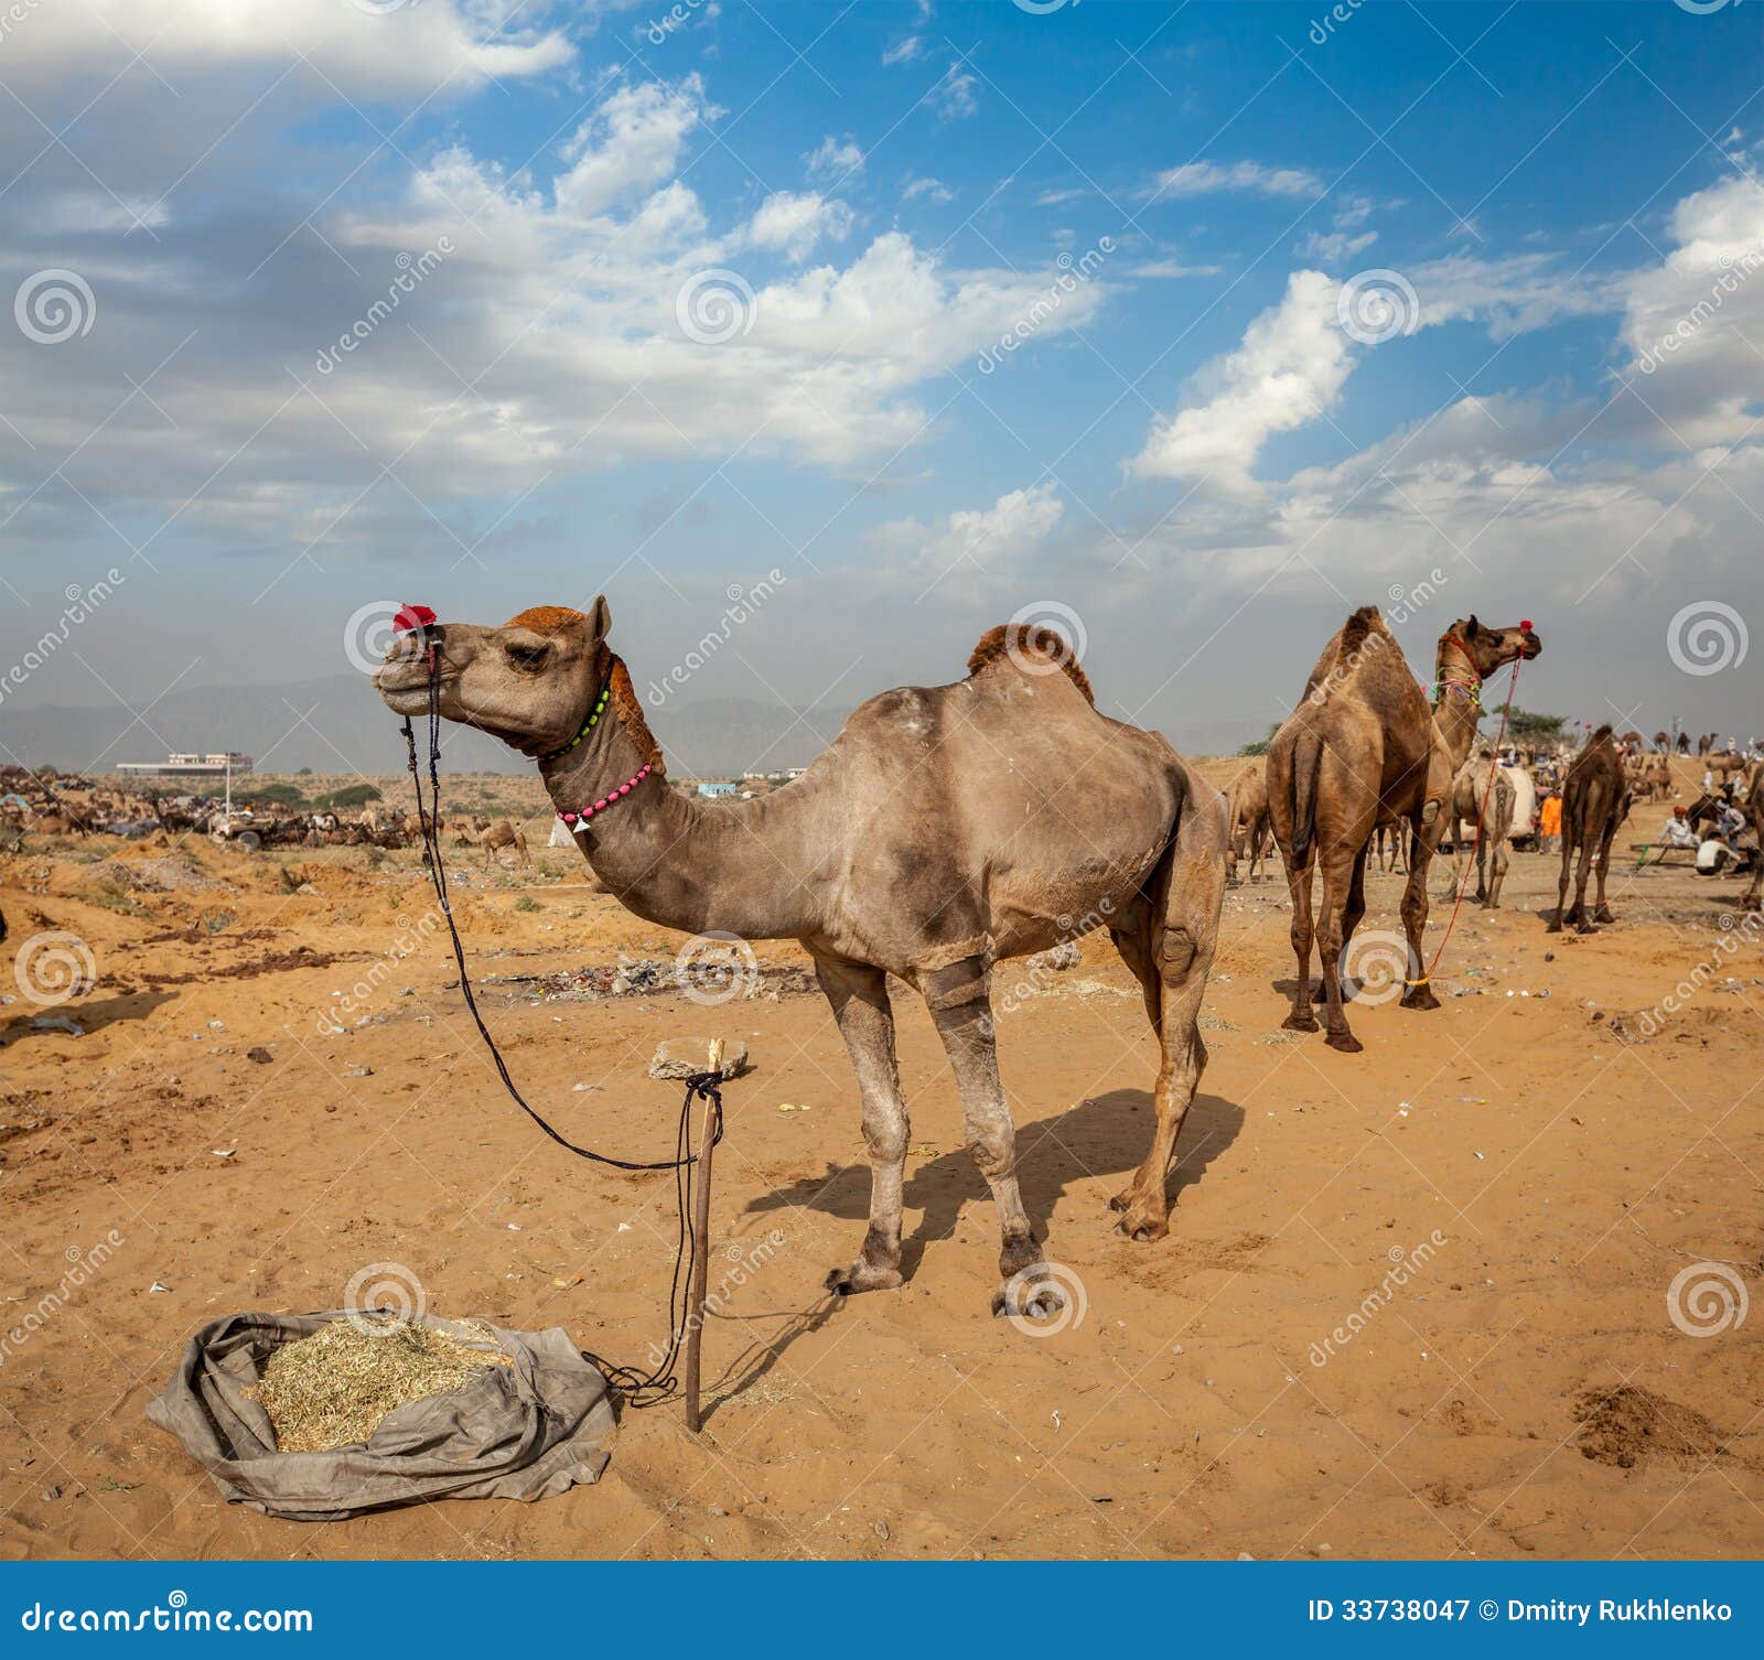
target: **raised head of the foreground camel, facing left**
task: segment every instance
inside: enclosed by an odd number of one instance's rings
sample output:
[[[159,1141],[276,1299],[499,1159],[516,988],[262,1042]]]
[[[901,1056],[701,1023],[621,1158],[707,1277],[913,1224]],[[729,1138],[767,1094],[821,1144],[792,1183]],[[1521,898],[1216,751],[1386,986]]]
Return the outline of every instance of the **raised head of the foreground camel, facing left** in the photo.
[[[501,737],[524,755],[545,755],[582,730],[607,686],[614,663],[610,628],[605,596],[586,616],[538,605],[501,628],[430,623],[392,642],[374,688],[395,714],[427,714],[432,646],[441,714]]]

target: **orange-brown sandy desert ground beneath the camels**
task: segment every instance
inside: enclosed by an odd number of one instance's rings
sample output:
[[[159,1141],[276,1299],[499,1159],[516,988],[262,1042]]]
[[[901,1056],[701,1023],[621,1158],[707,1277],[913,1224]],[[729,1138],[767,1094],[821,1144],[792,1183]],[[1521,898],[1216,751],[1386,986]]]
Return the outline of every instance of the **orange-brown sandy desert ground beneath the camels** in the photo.
[[[1281,1030],[1274,857],[1226,894],[1210,1066],[1157,1242],[1117,1237],[1108,1210],[1152,1125],[1134,983],[1104,935],[1032,983],[1005,965],[1023,1191],[1074,1290],[1060,1330],[1025,1332],[990,1314],[997,1226],[917,998],[896,1000],[908,1279],[838,1302],[822,1281],[857,1247],[870,1175],[806,958],[760,946],[757,995],[699,1006],[667,974],[681,938],[543,850],[536,781],[448,797],[531,815],[533,870],[453,852],[455,910],[508,1062],[564,1133],[665,1157],[679,1087],[647,1076],[656,1043],[751,1050],[725,1088],[713,1284],[748,1267],[707,1328],[706,1432],[677,1401],[628,1411],[603,1480],[536,1505],[300,1524],[222,1503],[143,1420],[199,1325],[337,1307],[392,1263],[434,1312],[640,1360],[665,1325],[672,1184],[563,1155],[503,1095],[446,938],[422,928],[418,854],[26,838],[0,856],[0,1325],[120,1244],[0,1365],[7,1558],[1764,1547],[1764,1318],[1722,1304],[1764,1272],[1764,935],[1741,880],[1630,854],[1616,924],[1547,935],[1556,859],[1515,854],[1505,907],[1457,921],[1443,1007],[1362,998],[1365,1053],[1339,1055]],[[1667,811],[1637,808],[1619,852]],[[1365,930],[1399,926],[1401,880],[1374,868]],[[1445,884],[1436,864],[1429,951]],[[93,961],[56,1009],[12,984],[42,931]],[[610,995],[621,963],[633,990]]]

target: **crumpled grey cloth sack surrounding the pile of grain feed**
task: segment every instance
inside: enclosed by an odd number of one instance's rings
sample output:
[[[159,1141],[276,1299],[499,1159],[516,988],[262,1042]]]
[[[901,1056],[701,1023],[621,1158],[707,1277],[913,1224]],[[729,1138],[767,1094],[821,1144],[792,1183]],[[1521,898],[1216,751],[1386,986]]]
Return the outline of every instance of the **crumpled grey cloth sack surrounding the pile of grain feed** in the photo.
[[[607,1383],[568,1334],[489,1330],[513,1365],[492,1365],[452,1395],[390,1413],[365,1443],[277,1452],[263,1406],[245,1390],[284,1342],[330,1314],[229,1314],[203,1327],[146,1417],[171,1431],[233,1503],[268,1515],[332,1522],[432,1498],[538,1499],[593,1482],[614,1434]],[[467,1342],[476,1327],[422,1325]]]

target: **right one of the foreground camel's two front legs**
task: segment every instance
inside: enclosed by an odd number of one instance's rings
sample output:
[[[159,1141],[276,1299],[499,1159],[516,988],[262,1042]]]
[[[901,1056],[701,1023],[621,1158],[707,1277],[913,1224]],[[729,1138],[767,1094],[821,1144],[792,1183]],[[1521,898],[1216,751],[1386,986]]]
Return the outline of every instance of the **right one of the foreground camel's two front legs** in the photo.
[[[961,1129],[968,1152],[998,1207],[998,1290],[993,1314],[1053,1314],[1065,1297],[1048,1274],[1016,1185],[1016,1125],[998,1078],[986,965],[975,958],[919,977],[931,1023],[944,1041],[961,1094]]]

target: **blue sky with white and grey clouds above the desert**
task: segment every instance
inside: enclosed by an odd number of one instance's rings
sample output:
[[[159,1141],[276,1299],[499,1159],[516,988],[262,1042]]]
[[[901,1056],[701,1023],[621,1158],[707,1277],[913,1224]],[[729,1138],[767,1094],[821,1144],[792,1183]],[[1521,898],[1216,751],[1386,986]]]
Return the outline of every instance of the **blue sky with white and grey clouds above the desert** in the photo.
[[[670,695],[848,704],[1060,605],[1215,746],[1425,586],[1424,674],[1529,616],[1526,702],[1745,725],[1760,69],[1764,5],[1672,0],[44,0],[0,660],[125,580],[5,699],[602,587],[642,681],[780,570]]]

